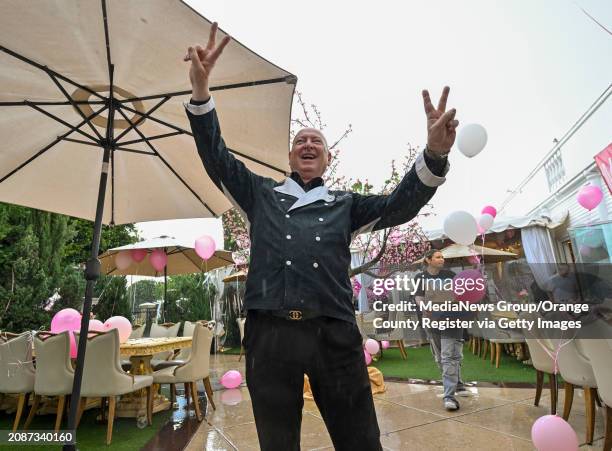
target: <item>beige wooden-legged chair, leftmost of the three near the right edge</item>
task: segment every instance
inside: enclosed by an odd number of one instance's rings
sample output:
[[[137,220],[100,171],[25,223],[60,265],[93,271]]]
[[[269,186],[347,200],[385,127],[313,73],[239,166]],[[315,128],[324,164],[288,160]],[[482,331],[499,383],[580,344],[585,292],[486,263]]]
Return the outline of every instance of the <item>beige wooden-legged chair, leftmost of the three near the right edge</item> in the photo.
[[[529,320],[537,320],[537,314],[522,313],[519,318]],[[555,373],[555,361],[552,358],[554,349],[552,343],[547,338],[540,338],[534,331],[523,328],[525,334],[525,342],[529,348],[531,364],[536,369],[536,397],[533,405],[537,406],[540,403],[542,396],[542,388],[544,386],[544,374],[548,375],[548,385],[550,386],[550,414],[557,413],[557,375]]]

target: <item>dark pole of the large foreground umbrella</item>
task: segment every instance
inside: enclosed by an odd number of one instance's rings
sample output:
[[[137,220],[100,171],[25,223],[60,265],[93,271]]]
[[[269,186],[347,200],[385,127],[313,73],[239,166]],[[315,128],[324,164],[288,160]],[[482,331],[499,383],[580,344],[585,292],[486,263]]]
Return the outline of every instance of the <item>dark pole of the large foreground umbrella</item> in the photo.
[[[70,412],[68,413],[68,430],[73,431],[72,443],[64,444],[64,451],[76,451],[76,418],[81,402],[81,382],[83,380],[83,367],[85,365],[85,350],[87,347],[87,332],[89,330],[89,315],[91,313],[91,299],[96,280],[100,278],[100,238],[102,236],[102,216],[104,214],[104,199],[106,197],[106,183],[108,181],[109,162],[114,146],[114,117],[115,105],[113,96],[113,73],[114,66],[109,61],[110,95],[108,102],[108,121],[106,122],[106,138],[100,140],[100,146],[104,148],[102,156],[102,171],[100,172],[100,185],[98,187],[98,203],[96,204],[96,219],[94,221],[93,241],[91,243],[91,255],[85,266],[85,300],[83,302],[83,317],[81,319],[81,331],[79,345],[77,348],[77,361],[74,369],[74,380],[72,393],[70,395]]]

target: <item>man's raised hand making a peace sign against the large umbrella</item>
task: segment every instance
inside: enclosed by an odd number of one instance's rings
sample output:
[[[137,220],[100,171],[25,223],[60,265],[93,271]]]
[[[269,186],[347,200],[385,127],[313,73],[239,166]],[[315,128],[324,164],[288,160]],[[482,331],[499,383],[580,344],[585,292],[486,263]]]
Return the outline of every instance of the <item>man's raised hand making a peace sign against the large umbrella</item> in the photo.
[[[206,44],[205,48],[202,48],[200,45],[189,47],[187,55],[183,58],[183,61],[191,61],[189,79],[191,80],[191,87],[193,89],[193,100],[208,100],[210,97],[210,91],[208,90],[210,73],[217,59],[223,52],[223,49],[231,40],[229,36],[225,36],[221,44],[217,46],[215,41],[218,27],[217,22],[212,24],[208,44]]]

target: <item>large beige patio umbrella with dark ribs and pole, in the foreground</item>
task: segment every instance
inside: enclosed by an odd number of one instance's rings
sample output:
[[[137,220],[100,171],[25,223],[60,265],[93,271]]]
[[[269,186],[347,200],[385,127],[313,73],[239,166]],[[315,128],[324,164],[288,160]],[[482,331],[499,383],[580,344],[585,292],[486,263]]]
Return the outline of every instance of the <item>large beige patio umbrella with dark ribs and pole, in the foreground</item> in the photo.
[[[0,3],[0,201],[94,220],[70,429],[102,223],[230,207],[202,168],[182,106],[191,93],[182,56],[210,27],[179,0]],[[228,148],[261,175],[288,170],[295,83],[236,40],[211,79]]]

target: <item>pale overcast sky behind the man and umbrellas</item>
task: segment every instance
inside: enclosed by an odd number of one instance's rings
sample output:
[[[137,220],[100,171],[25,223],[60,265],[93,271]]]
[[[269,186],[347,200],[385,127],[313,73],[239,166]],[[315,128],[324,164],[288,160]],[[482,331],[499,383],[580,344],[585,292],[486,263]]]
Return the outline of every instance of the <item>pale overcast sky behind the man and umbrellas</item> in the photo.
[[[489,142],[473,159],[453,149],[448,180],[432,202],[437,215],[423,221],[428,229],[451,211],[500,205],[612,81],[612,36],[580,10],[612,29],[609,0],[187,3],[297,75],[297,89],[328,124],[328,141],[352,124],[341,171],[375,186],[407,143],[425,143],[421,90],[437,101],[448,84],[449,107],[463,124],[482,124]],[[610,142],[610,104],[582,134],[589,154]],[[513,208],[505,213],[525,213]],[[139,228],[147,238],[208,233],[221,246],[217,220]]]

